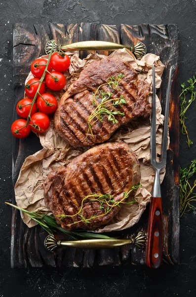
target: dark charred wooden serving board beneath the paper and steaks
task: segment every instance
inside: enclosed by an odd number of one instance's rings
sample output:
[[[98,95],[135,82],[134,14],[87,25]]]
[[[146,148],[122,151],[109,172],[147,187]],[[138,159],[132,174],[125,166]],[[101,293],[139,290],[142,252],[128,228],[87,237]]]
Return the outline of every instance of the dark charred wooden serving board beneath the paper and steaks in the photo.
[[[163,196],[163,263],[179,262],[179,101],[178,101],[178,28],[177,25],[142,24],[130,26],[121,24],[96,25],[80,24],[49,24],[52,38],[57,44],[72,43],[83,40],[104,40],[133,46],[142,41],[147,51],[160,55],[166,65],[159,98],[163,107],[166,95],[166,84],[169,67],[173,67],[174,79],[171,87],[171,104],[169,115],[170,147],[167,152],[166,175],[162,183]],[[13,82],[15,105],[23,97],[24,82],[34,59],[44,54],[45,43],[49,40],[46,29],[42,25],[30,27],[28,24],[13,25]],[[110,54],[108,51],[100,52]],[[83,58],[86,51],[80,52]],[[167,67],[169,65],[169,67]],[[161,96],[160,96],[161,94]],[[15,106],[14,106],[15,107]],[[16,113],[13,116],[17,118]],[[35,135],[28,139],[13,139],[13,185],[17,180],[25,157],[39,150],[39,140]],[[13,198],[15,203],[15,198]],[[118,236],[126,237],[146,231],[148,209],[139,222]],[[91,267],[93,265],[121,265],[124,263],[145,264],[145,251],[136,247],[124,246],[114,249],[81,250],[66,248],[60,253],[51,254],[46,251],[43,241],[46,233],[39,227],[29,229],[21,220],[20,212],[13,210],[11,235],[11,267],[51,267],[74,266]]]

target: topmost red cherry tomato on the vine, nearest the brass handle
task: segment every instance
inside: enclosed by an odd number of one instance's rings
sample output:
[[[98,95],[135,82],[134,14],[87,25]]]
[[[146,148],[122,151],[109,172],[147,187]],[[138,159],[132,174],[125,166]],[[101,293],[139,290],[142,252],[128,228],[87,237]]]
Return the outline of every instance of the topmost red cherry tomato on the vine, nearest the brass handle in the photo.
[[[67,54],[54,52],[50,59],[51,67],[56,71],[66,71],[70,67],[71,61]]]

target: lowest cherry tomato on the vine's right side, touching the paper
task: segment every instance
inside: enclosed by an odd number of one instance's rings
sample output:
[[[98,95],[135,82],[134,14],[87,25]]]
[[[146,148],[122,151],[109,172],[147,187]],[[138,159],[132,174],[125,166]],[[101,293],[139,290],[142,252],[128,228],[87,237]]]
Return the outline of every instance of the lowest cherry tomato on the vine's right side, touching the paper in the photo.
[[[45,113],[36,112],[31,117],[30,125],[31,130],[37,133],[43,133],[49,128],[50,120]]]

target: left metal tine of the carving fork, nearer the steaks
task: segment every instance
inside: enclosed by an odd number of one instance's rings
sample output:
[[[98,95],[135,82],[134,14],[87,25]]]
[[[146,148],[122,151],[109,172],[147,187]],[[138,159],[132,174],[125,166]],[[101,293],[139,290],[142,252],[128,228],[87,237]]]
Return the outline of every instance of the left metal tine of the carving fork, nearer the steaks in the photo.
[[[153,64],[153,102],[151,116],[151,164],[156,166],[156,84],[155,65]]]

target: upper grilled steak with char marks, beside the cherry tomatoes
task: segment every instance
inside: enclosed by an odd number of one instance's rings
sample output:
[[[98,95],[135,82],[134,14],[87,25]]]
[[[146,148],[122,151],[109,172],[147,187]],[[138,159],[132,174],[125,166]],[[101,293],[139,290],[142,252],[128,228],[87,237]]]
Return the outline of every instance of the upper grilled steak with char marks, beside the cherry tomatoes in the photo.
[[[107,83],[111,77],[117,78],[119,74],[123,77],[117,88],[104,85],[100,90],[112,93],[111,98],[114,99],[123,96],[126,104],[110,106],[108,109],[122,112],[124,115],[117,114],[115,118],[118,123],[114,124],[108,120],[108,115],[103,115],[103,121],[98,120],[92,126],[91,135],[87,132],[88,118],[96,108],[93,106],[93,95],[100,85]],[[93,61],[81,71],[78,80],[61,98],[54,116],[55,128],[62,138],[75,147],[103,143],[121,124],[150,114],[149,90],[149,84],[139,80],[137,72],[128,63],[112,57]]]

